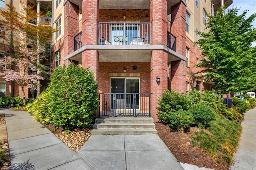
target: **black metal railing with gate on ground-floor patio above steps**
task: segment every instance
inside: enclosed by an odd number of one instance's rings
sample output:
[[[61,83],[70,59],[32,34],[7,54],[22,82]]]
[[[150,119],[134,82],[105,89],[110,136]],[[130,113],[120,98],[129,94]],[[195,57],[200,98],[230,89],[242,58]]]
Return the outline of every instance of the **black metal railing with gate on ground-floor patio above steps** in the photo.
[[[100,93],[99,117],[150,117],[150,93]]]

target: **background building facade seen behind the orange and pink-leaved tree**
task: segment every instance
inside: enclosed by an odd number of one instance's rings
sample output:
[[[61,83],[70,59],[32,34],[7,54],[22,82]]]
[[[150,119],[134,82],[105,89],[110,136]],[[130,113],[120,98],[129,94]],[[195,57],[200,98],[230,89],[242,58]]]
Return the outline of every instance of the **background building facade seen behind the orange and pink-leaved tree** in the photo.
[[[36,12],[42,12],[42,16],[38,18],[34,18],[34,20],[31,20],[28,24],[37,26],[38,23],[44,24],[46,26],[52,26],[52,16],[46,16],[46,13],[48,11],[52,11],[52,0],[0,0],[0,9],[1,10],[7,10],[8,6],[7,4],[12,4],[16,8],[16,12],[22,13],[24,12],[24,9],[22,8],[22,4],[25,6],[32,4],[34,6],[34,11]],[[2,16],[0,16],[2,17]],[[1,35],[10,36],[10,33],[7,33],[4,29],[4,26],[1,24],[0,29]],[[1,39],[4,38],[4,36],[0,37]],[[2,40],[1,40],[2,42]],[[48,57],[47,59],[44,59],[42,61],[43,65],[46,65],[50,67],[52,63],[51,59],[51,40],[49,40],[49,43],[45,44],[44,47],[42,47],[40,50],[43,52],[46,52]],[[2,45],[2,44],[1,44]],[[29,47],[30,44],[28,44],[27,47]],[[11,50],[10,50],[11,51]],[[0,54],[4,54],[5,51],[0,50]],[[43,91],[47,84],[50,82],[50,77],[46,77],[43,81],[40,81],[40,89],[38,91]],[[25,95],[27,98],[34,98],[37,97],[37,91],[31,91],[29,88],[25,88]],[[22,90],[16,84],[15,82],[8,82],[5,81],[2,77],[0,77],[0,97],[21,97],[22,98]]]

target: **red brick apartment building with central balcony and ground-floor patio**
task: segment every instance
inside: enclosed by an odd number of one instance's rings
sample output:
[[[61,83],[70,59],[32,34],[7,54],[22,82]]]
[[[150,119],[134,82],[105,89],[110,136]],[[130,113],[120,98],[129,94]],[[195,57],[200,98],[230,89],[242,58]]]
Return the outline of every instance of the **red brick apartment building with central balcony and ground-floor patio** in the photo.
[[[55,0],[53,65],[73,62],[94,71],[100,116],[150,110],[157,121],[157,99],[166,89],[213,87],[194,77],[201,60],[194,42],[206,13],[224,3],[232,0]]]

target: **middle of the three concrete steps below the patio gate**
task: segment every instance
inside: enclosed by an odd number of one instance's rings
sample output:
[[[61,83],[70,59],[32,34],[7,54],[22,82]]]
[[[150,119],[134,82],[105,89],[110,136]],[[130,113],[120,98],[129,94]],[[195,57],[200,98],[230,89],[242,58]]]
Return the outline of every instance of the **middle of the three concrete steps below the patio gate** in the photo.
[[[154,123],[95,123],[94,129],[100,128],[155,128]]]

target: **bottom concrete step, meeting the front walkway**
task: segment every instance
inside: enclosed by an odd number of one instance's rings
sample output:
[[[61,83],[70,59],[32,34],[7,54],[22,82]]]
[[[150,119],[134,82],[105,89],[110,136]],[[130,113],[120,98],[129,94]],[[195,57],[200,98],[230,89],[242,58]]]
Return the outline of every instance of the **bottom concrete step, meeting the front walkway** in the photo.
[[[155,128],[102,128],[93,129],[91,134],[157,134],[157,130]]]

